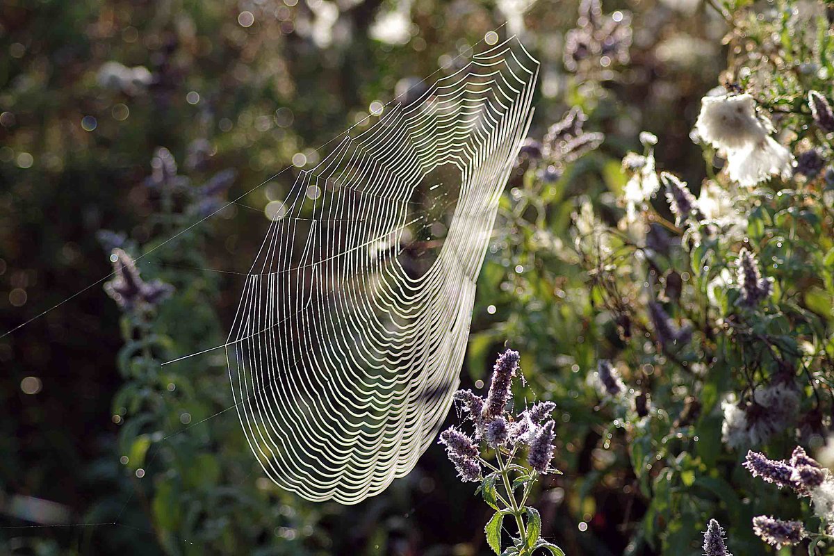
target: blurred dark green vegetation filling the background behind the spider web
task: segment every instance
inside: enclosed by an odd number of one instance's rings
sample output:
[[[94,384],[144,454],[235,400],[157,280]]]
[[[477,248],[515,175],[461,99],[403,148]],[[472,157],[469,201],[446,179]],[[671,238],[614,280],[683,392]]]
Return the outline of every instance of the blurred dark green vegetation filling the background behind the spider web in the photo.
[[[263,477],[234,411],[218,414],[231,405],[223,358],[159,363],[224,341],[242,285],[236,273],[254,258],[269,202],[294,176],[175,234],[299,153],[315,162],[315,149],[371,103],[439,66],[453,71],[459,54],[502,23],[500,36],[520,33],[542,63],[530,136],[544,138],[571,107],[588,115],[586,132],[605,134],[576,159],[520,160],[462,372],[462,387],[483,388],[510,345],[529,381],[516,395],[558,405],[553,464],[565,474],[543,478],[531,497],[542,536],[569,554],[699,553],[700,532],[716,518],[736,554],[765,553],[753,515],[811,516],[741,468],[746,448],[721,442],[721,401],[791,373],[805,420],[769,438],[768,453],[784,458],[798,442],[818,448],[825,438],[830,185],[821,170],[737,191],[691,130],[712,88],[746,90],[792,152],[818,148],[830,161],[831,136],[806,106],[810,89],[831,98],[826,9],[612,0],[601,7],[610,19],[599,20],[594,3],[521,8],[512,0],[0,6],[2,331],[50,309],[0,338],[0,525],[101,523],[0,529],[4,549],[490,553],[491,511],[456,480],[442,447],[359,507],[305,503]],[[609,27],[593,28],[600,21]],[[605,52],[585,56],[590,39]],[[726,202],[743,208],[745,228],[676,223],[662,192],[629,228],[621,159],[648,153],[641,131],[656,135],[646,145],[657,168],[696,197],[709,179],[731,192]],[[646,257],[650,241],[661,242],[659,254]],[[736,310],[736,287],[710,285],[735,268],[742,245],[766,265],[778,258],[766,270],[773,303],[747,313]],[[101,278],[114,247],[148,253],[139,271],[171,284],[170,297],[141,311],[113,303]],[[688,324],[692,343],[660,345],[650,301]],[[600,358],[620,368],[627,397],[605,398],[589,382]],[[648,418],[634,405],[640,393],[651,400]]]

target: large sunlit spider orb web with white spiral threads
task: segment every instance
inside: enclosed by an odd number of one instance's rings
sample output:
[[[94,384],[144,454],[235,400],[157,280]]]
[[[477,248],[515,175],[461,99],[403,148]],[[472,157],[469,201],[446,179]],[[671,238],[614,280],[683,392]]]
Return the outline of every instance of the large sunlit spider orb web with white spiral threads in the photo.
[[[514,38],[475,54],[289,188],[226,347],[249,447],[280,487],[358,503],[435,438],[537,75]]]

